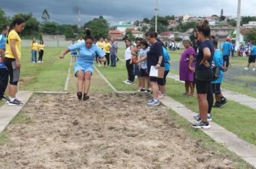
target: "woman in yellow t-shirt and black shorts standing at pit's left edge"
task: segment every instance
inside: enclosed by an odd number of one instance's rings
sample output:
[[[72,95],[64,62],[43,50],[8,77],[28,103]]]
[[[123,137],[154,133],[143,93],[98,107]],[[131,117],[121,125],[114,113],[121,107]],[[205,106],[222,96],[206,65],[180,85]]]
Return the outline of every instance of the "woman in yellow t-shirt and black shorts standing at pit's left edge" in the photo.
[[[20,59],[22,56],[22,39],[19,34],[24,30],[25,20],[17,18],[12,22],[11,32],[6,37],[6,54],[4,56],[4,64],[9,72],[9,105],[23,105],[21,100],[16,98],[17,84],[19,82],[20,67],[22,66]]]

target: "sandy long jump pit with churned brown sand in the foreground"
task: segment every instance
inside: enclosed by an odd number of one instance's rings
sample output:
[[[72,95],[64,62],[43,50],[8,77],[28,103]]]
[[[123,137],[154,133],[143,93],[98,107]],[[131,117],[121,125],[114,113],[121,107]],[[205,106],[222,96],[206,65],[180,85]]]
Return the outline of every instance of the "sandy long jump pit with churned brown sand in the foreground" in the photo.
[[[188,137],[142,94],[33,95],[9,125],[0,168],[234,168]]]

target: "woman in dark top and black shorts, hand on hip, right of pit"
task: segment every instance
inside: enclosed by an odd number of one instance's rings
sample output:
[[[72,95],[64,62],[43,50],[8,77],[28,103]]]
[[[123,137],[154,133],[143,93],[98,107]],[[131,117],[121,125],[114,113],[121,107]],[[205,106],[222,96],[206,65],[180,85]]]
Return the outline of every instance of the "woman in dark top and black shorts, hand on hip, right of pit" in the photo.
[[[211,40],[209,40],[211,29],[208,21],[200,21],[196,29],[200,44],[198,46],[198,55],[196,57],[195,77],[196,91],[198,94],[198,107],[201,120],[194,124],[193,127],[210,128],[211,126],[207,121],[207,112],[209,109],[207,92],[211,91],[211,80],[214,77],[214,71],[211,67],[211,62],[214,57],[214,46]]]

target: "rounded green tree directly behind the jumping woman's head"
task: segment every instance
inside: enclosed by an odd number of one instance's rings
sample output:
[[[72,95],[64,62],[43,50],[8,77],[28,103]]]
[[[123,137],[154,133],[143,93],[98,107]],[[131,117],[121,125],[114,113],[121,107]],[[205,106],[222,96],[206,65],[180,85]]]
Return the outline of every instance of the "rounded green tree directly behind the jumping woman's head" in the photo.
[[[108,36],[109,32],[109,23],[104,19],[103,16],[99,16],[99,18],[95,18],[92,21],[88,21],[84,24],[85,28],[91,29],[91,32],[94,37],[104,37]]]

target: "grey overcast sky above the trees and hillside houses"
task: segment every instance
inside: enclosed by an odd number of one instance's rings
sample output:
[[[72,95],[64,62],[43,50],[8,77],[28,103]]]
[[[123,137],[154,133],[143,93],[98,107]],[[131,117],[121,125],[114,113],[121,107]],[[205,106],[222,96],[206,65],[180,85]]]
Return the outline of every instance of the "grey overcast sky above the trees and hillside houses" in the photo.
[[[155,14],[156,0],[0,0],[0,8],[7,16],[32,14],[41,21],[42,11],[47,9],[51,21],[59,24],[78,24],[78,6],[81,23],[103,15],[111,25],[119,21],[151,19]],[[242,1],[242,16],[256,16],[256,1]],[[237,15],[237,0],[158,0],[160,16],[189,14],[190,16]]]

